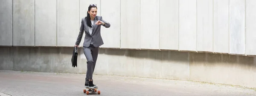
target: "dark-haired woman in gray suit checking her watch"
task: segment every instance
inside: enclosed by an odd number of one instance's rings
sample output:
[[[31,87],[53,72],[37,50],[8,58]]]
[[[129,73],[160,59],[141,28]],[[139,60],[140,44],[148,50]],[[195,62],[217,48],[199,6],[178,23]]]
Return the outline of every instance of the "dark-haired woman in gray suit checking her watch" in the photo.
[[[87,17],[84,17],[81,20],[80,32],[75,44],[76,47],[79,46],[81,38],[85,33],[83,50],[87,59],[87,72],[84,85],[88,88],[98,87],[97,85],[93,85],[93,71],[99,54],[99,46],[104,44],[100,34],[101,25],[105,28],[110,27],[110,23],[102,20],[101,16],[96,15],[97,5],[90,4],[87,11]]]

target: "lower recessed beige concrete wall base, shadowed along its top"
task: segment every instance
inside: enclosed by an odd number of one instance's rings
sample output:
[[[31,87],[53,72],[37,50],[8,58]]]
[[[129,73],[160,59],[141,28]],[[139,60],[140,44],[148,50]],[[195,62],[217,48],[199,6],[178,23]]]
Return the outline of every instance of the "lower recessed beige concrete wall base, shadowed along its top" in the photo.
[[[0,47],[0,70],[86,73],[79,48]],[[100,49],[94,74],[193,80],[256,88],[256,57],[178,51]]]

